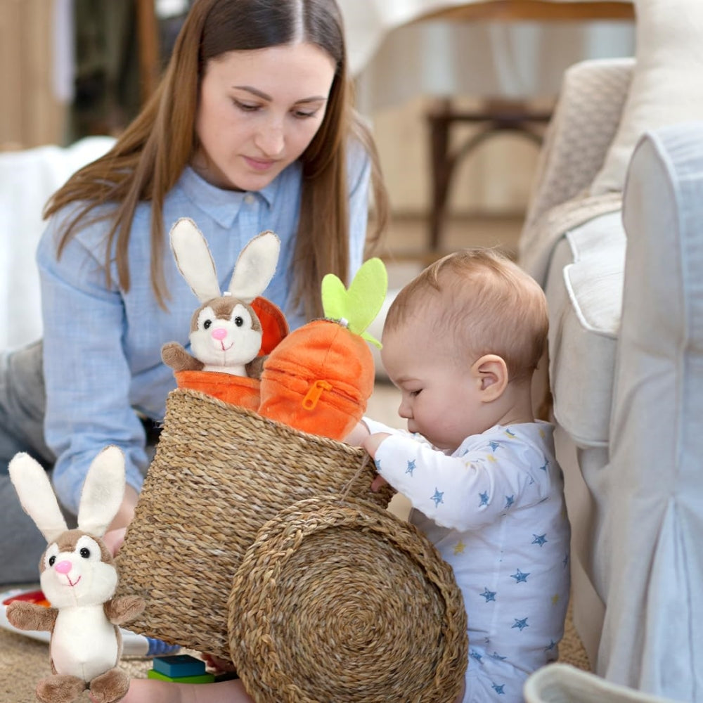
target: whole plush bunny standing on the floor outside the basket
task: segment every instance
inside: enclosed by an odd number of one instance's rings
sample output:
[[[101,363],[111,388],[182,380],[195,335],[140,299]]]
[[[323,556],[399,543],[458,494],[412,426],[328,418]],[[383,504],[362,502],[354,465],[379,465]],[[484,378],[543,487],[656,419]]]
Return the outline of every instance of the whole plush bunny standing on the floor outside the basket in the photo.
[[[118,625],[138,616],[136,595],[112,598],[117,569],[101,537],[122,503],[124,456],[108,446],[93,459],[83,486],[78,528],[68,529],[44,468],[25,453],[15,455],[10,478],[28,515],[49,543],[39,563],[41,590],[51,607],[22,601],[7,607],[21,630],[51,632],[52,676],[37,684],[45,703],[70,703],[89,688],[98,703],[127,694],[129,678],[117,668],[122,652]]]

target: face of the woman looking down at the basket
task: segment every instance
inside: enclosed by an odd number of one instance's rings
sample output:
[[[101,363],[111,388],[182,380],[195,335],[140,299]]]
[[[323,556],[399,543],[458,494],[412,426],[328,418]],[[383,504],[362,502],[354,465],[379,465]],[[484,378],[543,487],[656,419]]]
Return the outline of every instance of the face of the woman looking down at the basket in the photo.
[[[264,188],[312,141],[334,76],[333,59],[314,44],[229,51],[209,60],[193,168],[220,188]]]

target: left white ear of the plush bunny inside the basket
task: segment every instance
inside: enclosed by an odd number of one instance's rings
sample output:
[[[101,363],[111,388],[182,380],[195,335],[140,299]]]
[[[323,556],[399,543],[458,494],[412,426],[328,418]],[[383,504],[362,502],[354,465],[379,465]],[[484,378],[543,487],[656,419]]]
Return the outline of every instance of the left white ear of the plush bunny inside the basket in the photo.
[[[212,254],[195,222],[181,217],[169,234],[176,266],[201,303],[219,297],[219,281]]]

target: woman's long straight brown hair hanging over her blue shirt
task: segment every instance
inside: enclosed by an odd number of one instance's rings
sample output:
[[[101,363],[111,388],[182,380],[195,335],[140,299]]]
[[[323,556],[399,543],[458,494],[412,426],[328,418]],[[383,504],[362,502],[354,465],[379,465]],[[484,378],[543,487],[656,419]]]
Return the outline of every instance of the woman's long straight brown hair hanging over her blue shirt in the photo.
[[[346,148],[350,135],[361,141],[371,159],[376,227],[370,242],[378,239],[388,214],[373,139],[352,108],[342,15],[335,0],[195,0],[165,75],[143,110],[107,154],[76,172],[46,205],[44,217],[50,217],[66,205],[80,203],[61,234],[58,255],[96,207],[115,203],[110,214],[99,216],[111,220],[106,276],[109,283],[114,246],[120,287],[129,290],[132,219],[139,202],[150,202],[151,281],[159,304],[165,307],[169,295],[163,271],[163,204],[197,148],[195,120],[207,61],[227,51],[299,40],[321,47],[337,65],[323,122],[300,157],[302,202],[292,299],[308,318],[321,315],[324,274],[336,273],[342,280],[349,274]]]

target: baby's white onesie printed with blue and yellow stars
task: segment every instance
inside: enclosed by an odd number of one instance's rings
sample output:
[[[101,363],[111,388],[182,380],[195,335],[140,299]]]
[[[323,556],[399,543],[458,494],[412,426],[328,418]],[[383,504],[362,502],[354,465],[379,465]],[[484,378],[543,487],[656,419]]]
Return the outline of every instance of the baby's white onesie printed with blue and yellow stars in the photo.
[[[453,568],[467,612],[464,702],[522,702],[532,671],[557,659],[569,601],[569,521],[553,426],[467,437],[451,455],[390,432],[376,467],[413,505],[411,522]]]

